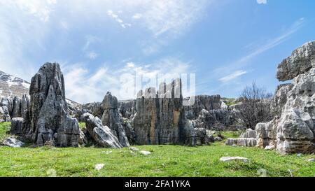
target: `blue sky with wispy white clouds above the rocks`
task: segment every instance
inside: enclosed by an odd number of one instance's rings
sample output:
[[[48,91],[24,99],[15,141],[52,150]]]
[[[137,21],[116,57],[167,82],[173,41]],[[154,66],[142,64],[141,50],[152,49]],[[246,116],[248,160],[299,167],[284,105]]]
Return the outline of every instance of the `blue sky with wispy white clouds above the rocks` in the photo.
[[[315,40],[313,0],[0,0],[0,70],[31,79],[59,62],[66,96],[118,99],[120,76],[195,73],[197,94],[274,92],[276,66]]]

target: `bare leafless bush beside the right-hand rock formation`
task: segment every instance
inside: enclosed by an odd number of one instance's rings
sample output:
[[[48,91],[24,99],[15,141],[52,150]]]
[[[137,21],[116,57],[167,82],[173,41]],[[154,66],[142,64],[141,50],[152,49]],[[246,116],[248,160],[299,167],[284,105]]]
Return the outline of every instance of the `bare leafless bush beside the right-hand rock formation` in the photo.
[[[239,115],[246,128],[255,129],[257,123],[272,120],[272,94],[267,93],[265,88],[253,82],[244,88],[239,99],[242,100]]]

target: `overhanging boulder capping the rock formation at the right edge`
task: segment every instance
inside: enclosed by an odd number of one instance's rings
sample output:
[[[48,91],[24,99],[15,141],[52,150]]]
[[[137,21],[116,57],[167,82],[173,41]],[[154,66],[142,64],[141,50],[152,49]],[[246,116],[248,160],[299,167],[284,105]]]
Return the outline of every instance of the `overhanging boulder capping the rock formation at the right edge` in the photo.
[[[307,73],[315,66],[315,41],[305,43],[283,59],[276,71],[276,78],[280,81],[292,80],[302,73]]]

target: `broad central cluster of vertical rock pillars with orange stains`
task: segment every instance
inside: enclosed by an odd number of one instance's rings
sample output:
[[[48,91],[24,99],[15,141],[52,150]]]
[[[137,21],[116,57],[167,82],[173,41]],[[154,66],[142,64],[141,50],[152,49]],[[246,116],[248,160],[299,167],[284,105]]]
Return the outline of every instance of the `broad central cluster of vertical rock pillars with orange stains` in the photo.
[[[137,144],[185,143],[186,119],[183,110],[181,80],[154,87],[137,95],[134,132]]]

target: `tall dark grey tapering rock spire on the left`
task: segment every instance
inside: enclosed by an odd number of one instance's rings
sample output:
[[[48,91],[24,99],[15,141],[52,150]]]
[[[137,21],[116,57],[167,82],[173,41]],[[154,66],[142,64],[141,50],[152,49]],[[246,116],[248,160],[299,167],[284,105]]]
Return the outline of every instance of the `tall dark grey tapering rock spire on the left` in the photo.
[[[25,136],[41,146],[78,146],[78,121],[69,117],[64,76],[59,64],[46,63],[31,78],[31,97],[25,118]]]

